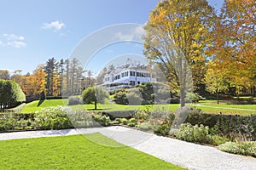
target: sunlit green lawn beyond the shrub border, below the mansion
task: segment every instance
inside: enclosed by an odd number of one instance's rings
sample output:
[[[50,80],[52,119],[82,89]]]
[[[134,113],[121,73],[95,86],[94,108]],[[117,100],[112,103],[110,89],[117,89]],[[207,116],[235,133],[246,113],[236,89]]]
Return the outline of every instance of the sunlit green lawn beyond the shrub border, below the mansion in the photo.
[[[33,101],[27,104],[22,113],[33,113],[35,111],[41,111],[42,108],[47,108],[50,106],[57,105],[67,105],[67,99],[46,99],[44,102],[38,106],[39,101]],[[203,100],[198,104],[193,104],[196,108],[201,109],[205,113],[213,113],[218,114],[222,112],[226,115],[251,115],[256,114],[256,105],[228,105],[224,101],[220,101],[220,104],[217,104],[215,100]],[[175,111],[180,105],[172,104],[172,105],[117,105],[111,102],[107,102],[106,104],[97,105],[97,111],[128,111],[128,110],[161,110],[161,111]],[[71,105],[73,110],[82,110],[86,109],[89,111],[94,111],[94,105]]]

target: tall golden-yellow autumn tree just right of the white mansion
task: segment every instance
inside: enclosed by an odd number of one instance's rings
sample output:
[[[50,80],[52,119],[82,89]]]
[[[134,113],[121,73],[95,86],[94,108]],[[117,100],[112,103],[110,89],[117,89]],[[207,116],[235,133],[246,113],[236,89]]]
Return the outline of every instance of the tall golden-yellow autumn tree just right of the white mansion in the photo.
[[[160,63],[172,87],[185,105],[190,75],[195,87],[206,72],[206,50],[211,45],[215,20],[206,0],[164,0],[151,11],[144,37],[144,54]]]

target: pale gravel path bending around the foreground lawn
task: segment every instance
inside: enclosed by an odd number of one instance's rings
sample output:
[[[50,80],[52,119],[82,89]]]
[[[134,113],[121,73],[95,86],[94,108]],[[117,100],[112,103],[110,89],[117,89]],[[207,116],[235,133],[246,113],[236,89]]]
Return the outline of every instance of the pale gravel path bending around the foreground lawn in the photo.
[[[256,170],[256,159],[222,152],[210,146],[193,144],[144,133],[127,127],[96,127],[83,129],[0,133],[0,140],[65,136],[80,133],[102,133],[121,144],[146,152],[162,160],[189,169]],[[104,144],[103,141],[93,141]]]

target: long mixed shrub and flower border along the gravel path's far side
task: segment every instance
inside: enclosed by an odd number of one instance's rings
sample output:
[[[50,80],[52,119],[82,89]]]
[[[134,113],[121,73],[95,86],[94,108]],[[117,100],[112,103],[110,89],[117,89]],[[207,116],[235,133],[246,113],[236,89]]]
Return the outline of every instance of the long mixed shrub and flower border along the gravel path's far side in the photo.
[[[183,124],[182,112],[188,111]],[[34,114],[0,114],[0,131],[125,125],[189,142],[218,145],[246,156],[256,153],[256,116],[208,115],[194,107],[172,111],[72,111],[52,107]],[[254,141],[254,142],[253,142]]]

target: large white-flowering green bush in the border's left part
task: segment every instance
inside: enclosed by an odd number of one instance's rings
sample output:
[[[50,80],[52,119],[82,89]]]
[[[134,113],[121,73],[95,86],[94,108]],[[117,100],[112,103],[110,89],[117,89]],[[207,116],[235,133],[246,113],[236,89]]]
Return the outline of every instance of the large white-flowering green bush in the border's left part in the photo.
[[[73,127],[69,121],[68,114],[71,109],[68,107],[51,107],[43,109],[34,115],[34,126],[38,129],[65,129]]]

